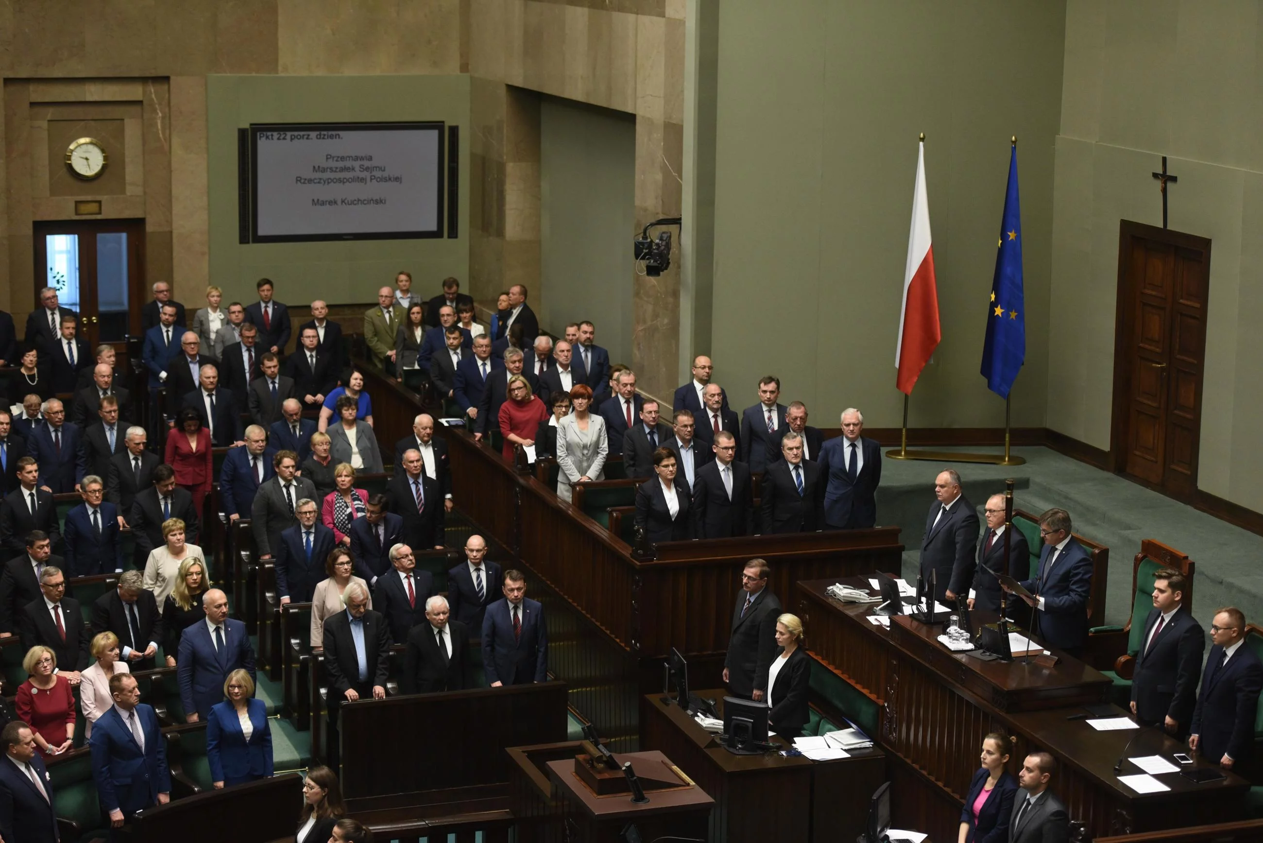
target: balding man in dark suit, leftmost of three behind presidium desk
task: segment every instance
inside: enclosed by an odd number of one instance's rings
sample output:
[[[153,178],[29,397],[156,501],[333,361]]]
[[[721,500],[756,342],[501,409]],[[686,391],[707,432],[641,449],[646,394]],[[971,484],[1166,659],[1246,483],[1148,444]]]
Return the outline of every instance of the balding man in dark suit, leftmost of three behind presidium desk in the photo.
[[[829,519],[829,493],[825,493],[825,518]],[[974,543],[978,541],[978,513],[961,492],[960,474],[949,469],[935,478],[935,498],[921,540],[921,579],[933,598],[955,600],[974,579]],[[1084,621],[1087,614],[1084,614]]]

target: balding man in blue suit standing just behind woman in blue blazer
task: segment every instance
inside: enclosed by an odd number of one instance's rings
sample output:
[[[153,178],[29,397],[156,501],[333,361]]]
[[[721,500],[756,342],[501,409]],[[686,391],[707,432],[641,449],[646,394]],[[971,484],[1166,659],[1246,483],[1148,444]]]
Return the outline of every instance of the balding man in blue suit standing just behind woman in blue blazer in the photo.
[[[211,589],[202,598],[202,610],[206,619],[184,629],[176,656],[179,699],[189,723],[205,720],[211,707],[224,700],[224,681],[234,670],[255,677],[254,647],[245,623],[229,617],[227,595]]]

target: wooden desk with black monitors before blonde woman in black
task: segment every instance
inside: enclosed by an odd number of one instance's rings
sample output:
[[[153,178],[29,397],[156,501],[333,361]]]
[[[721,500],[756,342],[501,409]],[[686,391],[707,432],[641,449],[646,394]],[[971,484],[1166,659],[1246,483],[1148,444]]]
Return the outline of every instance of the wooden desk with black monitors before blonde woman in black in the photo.
[[[722,689],[696,693],[719,699],[722,713]],[[877,748],[823,762],[733,755],[658,694],[640,698],[640,748],[664,752],[715,799],[710,839],[727,843],[854,840],[864,832],[873,790],[885,781],[885,756]]]

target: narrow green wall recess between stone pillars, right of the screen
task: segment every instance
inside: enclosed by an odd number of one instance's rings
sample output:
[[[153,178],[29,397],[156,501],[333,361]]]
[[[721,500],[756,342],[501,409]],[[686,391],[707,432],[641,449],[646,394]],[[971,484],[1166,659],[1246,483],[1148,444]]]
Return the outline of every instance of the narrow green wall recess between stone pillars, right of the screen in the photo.
[[[539,109],[539,324],[591,320],[611,363],[632,361],[635,118],[544,97]]]

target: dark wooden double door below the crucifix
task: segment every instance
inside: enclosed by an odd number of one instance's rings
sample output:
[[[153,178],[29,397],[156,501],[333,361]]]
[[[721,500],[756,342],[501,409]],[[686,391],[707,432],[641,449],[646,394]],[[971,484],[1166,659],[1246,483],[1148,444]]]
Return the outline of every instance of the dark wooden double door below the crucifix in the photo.
[[[1118,260],[1114,470],[1192,499],[1210,240],[1123,220]]]

